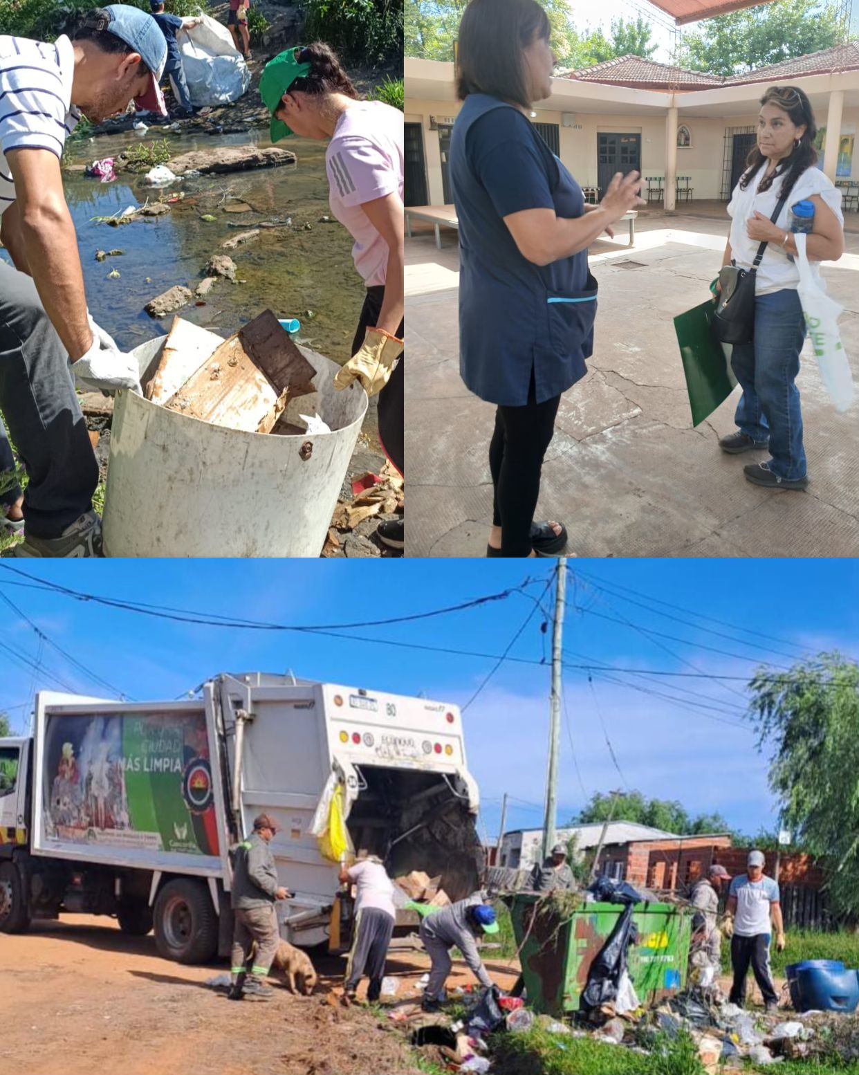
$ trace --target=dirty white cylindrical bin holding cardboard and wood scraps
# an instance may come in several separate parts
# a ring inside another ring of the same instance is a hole
[[[166,336],[131,353],[146,385]],[[116,395],[102,532],[105,556],[317,557],[367,413],[367,393],[333,386],[338,366],[300,347],[316,368],[314,408],[330,433],[243,433]]]

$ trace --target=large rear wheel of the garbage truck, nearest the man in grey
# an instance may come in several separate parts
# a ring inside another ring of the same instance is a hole
[[[207,963],[218,947],[218,919],[199,880],[168,882],[155,901],[155,943],[164,959]]]

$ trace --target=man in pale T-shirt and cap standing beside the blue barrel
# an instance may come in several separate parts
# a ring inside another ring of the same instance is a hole
[[[764,864],[763,851],[750,851],[747,872],[734,877],[728,889],[728,913],[733,915],[733,985],[730,1000],[740,1007],[745,1004],[746,976],[750,964],[767,1010],[774,1012],[778,1006],[778,997],[770,970],[770,922],[772,920],[772,926],[775,927],[775,945],[778,951],[783,951],[785,947],[785,923],[778,900],[778,885],[772,877],[764,876]]]

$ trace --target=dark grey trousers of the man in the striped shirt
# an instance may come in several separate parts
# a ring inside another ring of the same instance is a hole
[[[35,284],[0,261],[0,412],[24,461],[25,529],[59,538],[92,507],[99,467],[74,393],[69,356]]]

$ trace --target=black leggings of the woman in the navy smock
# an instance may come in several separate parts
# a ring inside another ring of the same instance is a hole
[[[492,525],[501,527],[502,556],[531,555],[531,522],[540,496],[543,457],[555,435],[560,396],[536,402],[534,375],[525,406],[499,406],[489,443],[495,486]]]

